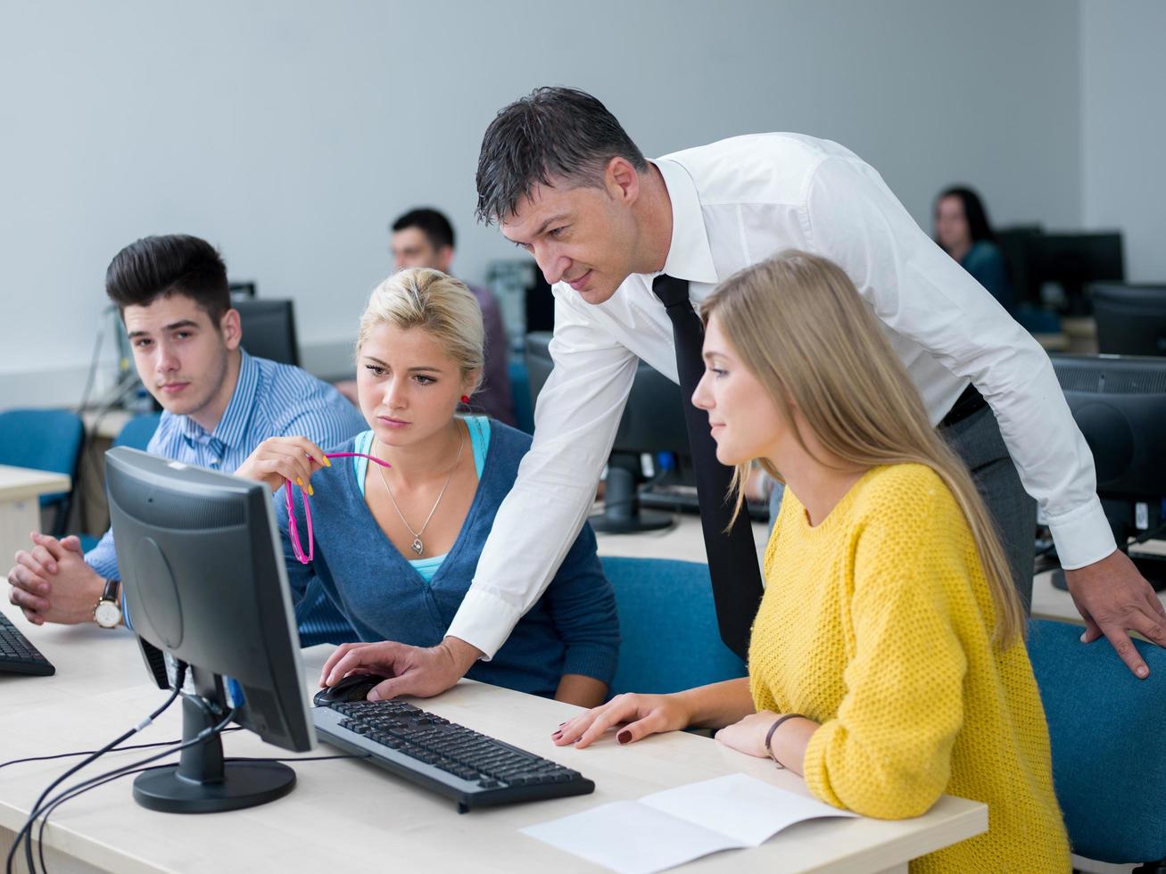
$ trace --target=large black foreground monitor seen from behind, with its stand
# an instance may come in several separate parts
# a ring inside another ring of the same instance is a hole
[[[156,665],[152,647],[188,665],[183,740],[238,706],[236,721],[268,743],[311,749],[267,487],[124,446],[105,459],[126,607],[147,665]],[[156,668],[152,676],[159,679]],[[241,702],[231,700],[224,677],[241,688]],[[276,762],[224,762],[213,734],[183,749],[177,766],[141,774],[134,798],[152,810],[204,813],[264,804],[294,784],[295,771]]]

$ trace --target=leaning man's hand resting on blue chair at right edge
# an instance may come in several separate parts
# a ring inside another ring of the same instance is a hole
[[[1150,669],[1129,632],[1166,647],[1166,608],[1129,556],[1115,551],[1100,562],[1066,571],[1065,579],[1086,620],[1081,640],[1091,643],[1104,635],[1131,672],[1143,679],[1149,677]]]

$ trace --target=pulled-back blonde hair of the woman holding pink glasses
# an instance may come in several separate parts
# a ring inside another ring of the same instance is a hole
[[[462,369],[477,372],[473,390],[482,385],[485,364],[485,329],[482,308],[461,280],[441,270],[415,267],[398,270],[372,290],[360,315],[357,354],[381,324],[420,327],[445,350]]]

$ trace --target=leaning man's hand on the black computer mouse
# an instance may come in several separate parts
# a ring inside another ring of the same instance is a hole
[[[393,641],[342,643],[324,663],[319,685],[336,685],[353,671],[384,674],[388,679],[368,692],[368,700],[401,695],[429,698],[457,683],[480,657],[482,650],[457,637],[447,637],[436,647]]]

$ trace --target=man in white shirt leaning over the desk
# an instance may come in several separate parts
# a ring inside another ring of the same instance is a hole
[[[676,379],[653,279],[687,280],[698,302],[733,272],[799,248],[841,265],[881,319],[932,421],[985,493],[1021,594],[1032,585],[1026,491],[1068,571],[1082,640],[1104,635],[1147,676],[1128,632],[1166,646],[1166,611],[1116,549],[1093,456],[1047,355],[854,153],[772,133],[646,161],[593,97],[539,89],[486,131],[477,182],[479,218],[497,221],[553,286],[555,367],[534,444],[445,641],[371,644],[379,649],[345,668],[375,663],[398,675],[396,693],[434,695],[490,657],[586,517],[637,360]]]

